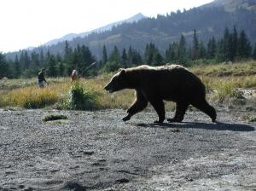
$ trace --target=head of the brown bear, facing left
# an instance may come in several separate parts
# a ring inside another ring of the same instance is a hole
[[[116,73],[113,78],[111,78],[110,82],[104,87],[104,89],[109,93],[124,90],[125,88],[128,88],[125,69],[119,69],[119,72]]]

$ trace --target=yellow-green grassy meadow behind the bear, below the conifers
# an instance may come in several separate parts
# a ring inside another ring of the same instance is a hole
[[[256,61],[200,65],[189,69],[202,79],[207,87],[207,99],[213,105],[230,104],[230,101],[241,99],[240,90],[256,90]],[[83,110],[127,108],[134,100],[133,90],[113,94],[103,90],[112,75],[108,73],[95,78],[80,78],[79,83],[75,84],[70,82],[70,78],[46,77],[49,84],[44,89],[38,88],[37,78],[1,79],[0,107]],[[168,102],[166,107],[173,109],[174,104]]]

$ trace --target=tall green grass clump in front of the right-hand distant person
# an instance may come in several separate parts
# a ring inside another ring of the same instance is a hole
[[[67,92],[67,98],[62,101],[61,107],[73,110],[93,110],[99,108],[99,93],[88,87],[83,87],[79,81],[74,82]]]

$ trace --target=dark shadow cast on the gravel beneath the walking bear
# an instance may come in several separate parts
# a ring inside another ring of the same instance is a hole
[[[135,124],[138,127],[145,128],[191,128],[191,129],[204,129],[204,130],[232,130],[232,131],[253,131],[253,126],[248,124],[231,124],[231,123],[200,123],[200,122],[183,122],[183,123],[163,123],[163,124]]]

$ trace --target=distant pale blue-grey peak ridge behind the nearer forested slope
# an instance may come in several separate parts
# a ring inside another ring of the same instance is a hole
[[[118,25],[121,25],[123,23],[137,22],[138,20],[142,20],[144,18],[147,18],[147,17],[144,16],[143,14],[141,14],[141,13],[138,13],[138,14],[135,14],[135,15],[131,16],[130,18],[128,18],[126,20],[120,20],[120,21],[117,21],[117,22],[113,22],[111,24],[108,24],[107,26],[102,26],[102,27],[96,28],[96,29],[94,29],[90,32],[81,32],[81,33],[78,33],[78,34],[69,33],[69,34],[63,36],[62,38],[57,38],[57,39],[51,40],[48,43],[45,43],[44,45],[45,46],[51,46],[51,45],[54,45],[56,43],[64,42],[66,40],[71,41],[71,40],[73,40],[73,38],[84,38],[84,37],[88,36],[90,33],[106,32],[106,31],[111,30],[113,26],[118,26]]]

